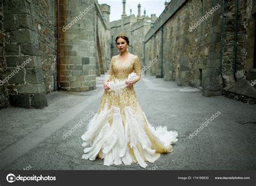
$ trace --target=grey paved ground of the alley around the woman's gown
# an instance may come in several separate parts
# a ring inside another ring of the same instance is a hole
[[[49,106],[44,109],[1,109],[0,169],[142,170],[138,164],[108,167],[103,166],[103,160],[81,159],[80,136],[87,122],[70,136],[63,136],[80,119],[97,112],[103,80],[104,77],[97,78],[97,89],[91,92],[52,93],[48,95]],[[154,77],[143,77],[135,90],[153,126],[165,125],[178,132],[173,152],[162,154],[146,169],[256,169],[256,106],[223,96],[206,98],[196,88],[178,87],[176,82]],[[190,139],[190,134],[218,111],[220,114]]]

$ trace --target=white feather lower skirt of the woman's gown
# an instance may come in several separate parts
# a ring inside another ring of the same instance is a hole
[[[108,109],[105,104],[82,135],[82,159],[98,157],[104,159],[105,166],[134,162],[146,168],[146,161],[153,163],[161,153],[171,152],[172,144],[178,141],[178,133],[167,127],[151,126],[139,104],[137,108],[134,112],[131,106],[125,106],[122,112],[117,106]]]

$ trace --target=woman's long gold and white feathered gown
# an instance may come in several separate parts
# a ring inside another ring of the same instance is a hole
[[[123,64],[122,64],[123,63]],[[127,79],[131,72],[137,74],[134,83],[140,80],[140,61],[130,54],[125,62],[113,56],[110,62],[108,81]],[[82,135],[84,154],[82,159],[104,159],[104,165],[130,165],[141,167],[145,161],[153,163],[161,153],[172,151],[172,144],[178,141],[178,133],[166,127],[153,127],[140,108],[133,85],[122,88],[120,93],[106,91],[100,100],[98,112],[89,122]]]

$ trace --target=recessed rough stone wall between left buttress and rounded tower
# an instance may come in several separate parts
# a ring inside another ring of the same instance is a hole
[[[56,0],[32,1],[46,93],[57,89],[57,11]]]

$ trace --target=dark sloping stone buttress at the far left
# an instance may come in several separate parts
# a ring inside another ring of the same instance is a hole
[[[3,4],[5,77],[12,106],[42,108],[47,105],[41,52],[33,18],[33,1],[9,0]]]

